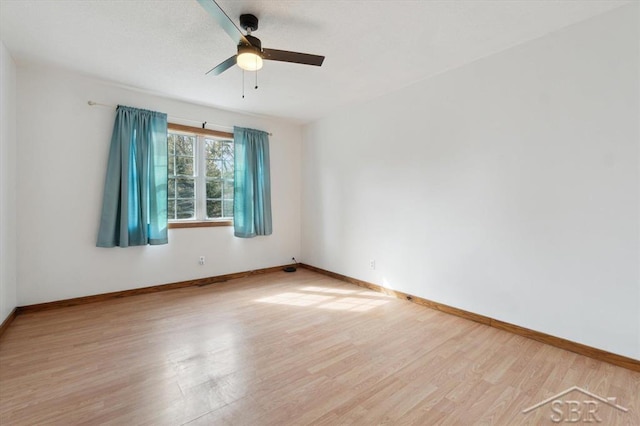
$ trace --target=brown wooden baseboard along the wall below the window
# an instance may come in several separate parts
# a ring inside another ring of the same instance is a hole
[[[168,284],[154,285],[150,287],[134,288],[131,290],[114,291],[112,293],[96,294],[92,296],[74,297],[73,299],[56,300],[54,302],[37,303],[34,305],[19,306],[15,309],[15,315],[32,312],[48,311],[50,309],[64,308],[68,306],[84,305],[87,303],[103,302],[105,300],[120,299],[122,297],[138,296],[141,294],[158,293],[161,291],[175,290],[185,287],[201,287],[209,284],[244,278],[251,275],[267,274],[282,271],[283,268],[293,265],[273,266],[270,268],[255,269],[252,271],[234,272],[232,274],[217,275],[214,277],[198,278],[195,280],[178,281]],[[6,321],[5,321],[6,322]],[[4,323],[3,323],[4,327]]]

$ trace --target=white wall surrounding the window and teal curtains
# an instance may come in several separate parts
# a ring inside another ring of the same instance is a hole
[[[299,256],[299,125],[42,66],[20,65],[17,74],[18,305],[283,265]],[[168,245],[96,248],[115,110],[89,107],[88,100],[272,132],[273,234],[239,239],[231,227],[172,229]],[[198,265],[200,255],[206,256],[204,266]]]

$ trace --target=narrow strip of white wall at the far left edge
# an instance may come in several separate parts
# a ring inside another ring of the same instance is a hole
[[[17,306],[16,64],[0,41],[0,323]]]

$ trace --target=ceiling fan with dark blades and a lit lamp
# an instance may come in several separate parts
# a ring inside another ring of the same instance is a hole
[[[198,3],[200,3],[238,45],[237,55],[233,55],[229,59],[216,65],[207,71],[207,74],[222,74],[236,63],[243,70],[257,71],[262,68],[263,60],[315,66],[321,66],[324,61],[324,56],[319,55],[290,52],[287,50],[263,49],[260,39],[251,35],[253,31],[258,29],[258,18],[256,16],[251,14],[240,15],[240,26],[247,31],[247,35],[244,35],[214,0],[198,0]]]

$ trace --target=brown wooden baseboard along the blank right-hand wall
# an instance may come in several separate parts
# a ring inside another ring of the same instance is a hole
[[[536,340],[538,342],[546,343],[551,346],[555,346],[560,349],[564,349],[570,352],[574,352],[580,355],[587,356],[589,358],[596,359],[598,361],[608,362],[609,364],[617,365],[618,367],[627,368],[632,371],[640,372],[640,361],[628,358],[622,355],[614,354],[604,351],[602,349],[594,348],[591,346],[583,345],[582,343],[573,342],[571,340],[563,339],[561,337],[552,336],[550,334],[541,333],[539,331],[531,330],[519,325],[510,324],[508,322],[500,321],[484,315],[475,314],[473,312],[465,311],[464,309],[454,308],[453,306],[444,305],[442,303],[434,302],[432,300],[423,299],[418,296],[414,296],[401,291],[391,290],[377,284],[372,284],[367,281],[351,278],[346,275],[337,274],[335,272],[327,271],[322,268],[307,265],[305,263],[299,264],[299,266],[306,268],[310,271],[314,271],[320,274],[327,275],[329,277],[355,284],[360,287],[368,288],[379,293],[388,294],[390,296],[397,297],[398,299],[404,299],[416,303],[418,305],[426,306],[431,309],[435,309],[447,314],[456,315],[461,318],[465,318],[471,321],[479,322],[490,327],[494,327],[500,330],[508,331],[520,336],[527,337],[529,339]]]

